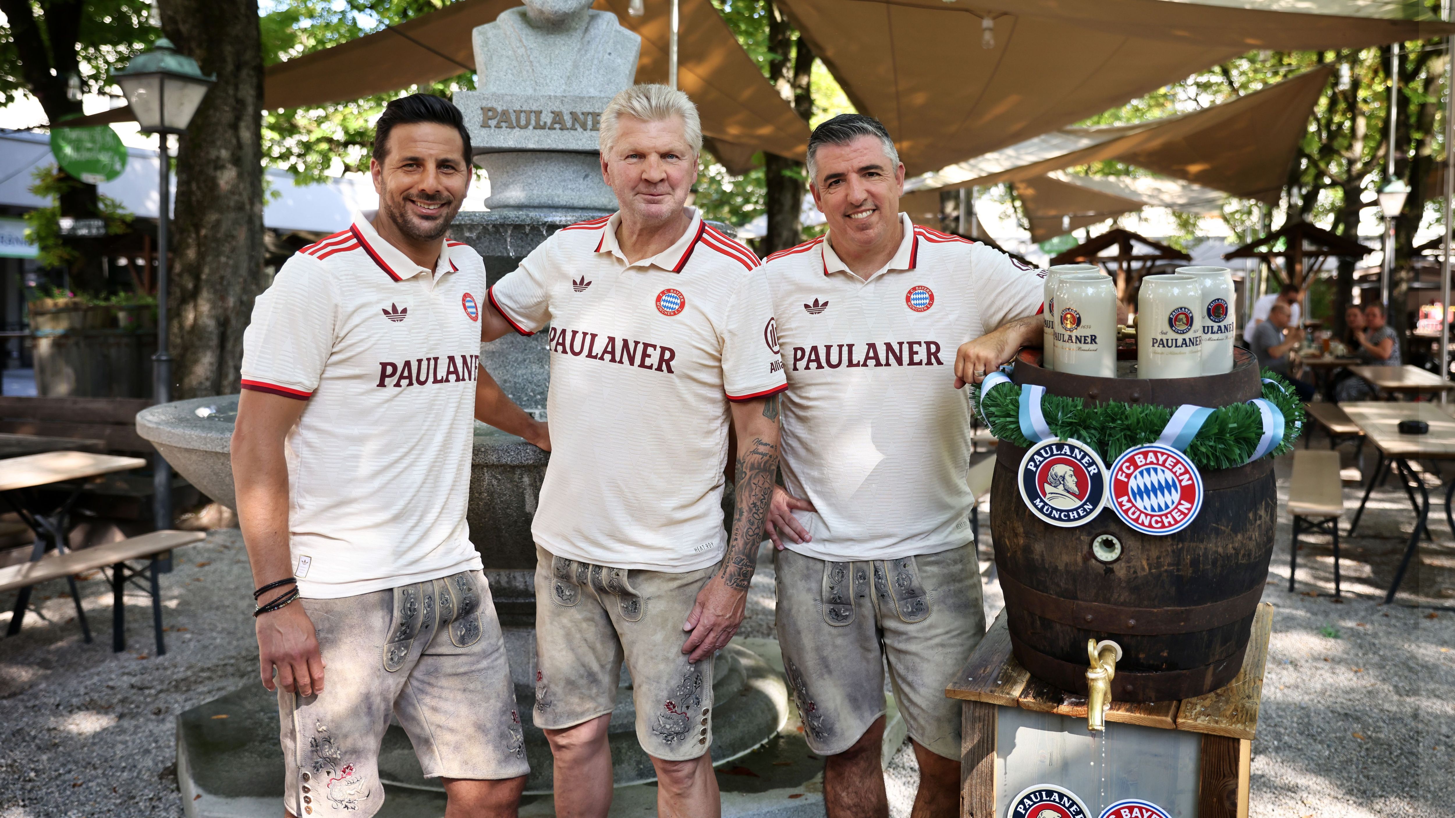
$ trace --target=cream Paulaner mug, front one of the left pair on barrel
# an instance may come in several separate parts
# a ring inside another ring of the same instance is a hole
[[[1101,273],[1056,279],[1056,372],[1116,378],[1116,283]]]

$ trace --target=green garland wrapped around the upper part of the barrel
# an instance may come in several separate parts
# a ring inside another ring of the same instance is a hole
[[[1283,440],[1269,456],[1277,456],[1293,448],[1304,427],[1304,404],[1286,381],[1272,369],[1263,370],[1263,378],[1275,384],[1263,384],[1263,397],[1283,413]],[[981,400],[981,389],[972,394],[991,421],[991,433],[1013,446],[1029,448],[1032,443],[1020,433],[1020,386],[1001,384]],[[1083,398],[1045,395],[1040,410],[1046,426],[1056,437],[1074,437],[1096,449],[1110,468],[1112,461],[1132,446],[1155,443],[1173,410],[1148,404],[1087,404]],[[1187,456],[1200,469],[1231,469],[1248,462],[1263,437],[1263,413],[1253,404],[1231,404],[1218,407],[1197,430],[1187,446]]]

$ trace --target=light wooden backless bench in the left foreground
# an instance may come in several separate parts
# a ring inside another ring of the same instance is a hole
[[[113,594],[112,651],[121,652],[127,649],[127,607],[122,602],[122,591],[129,580],[135,587],[151,596],[151,623],[157,633],[157,654],[160,655],[167,652],[167,648],[162,641],[162,588],[159,584],[162,571],[159,571],[159,564],[163,555],[167,555],[167,561],[170,561],[169,552],[173,548],[191,545],[205,538],[207,535],[202,532],[162,530],[80,551],[51,552],[32,562],[0,568],[0,591],[28,588],[47,580],[73,577],[83,571],[105,570],[109,567]],[[137,570],[127,565],[128,559],[148,559],[148,565]],[[141,586],[137,580],[147,580],[147,586]],[[22,613],[17,612],[16,616],[19,617]],[[81,623],[86,641],[90,642],[90,626],[86,623],[86,612],[81,610],[79,597],[76,599],[76,617]],[[10,631],[13,633],[16,628],[12,626]]]

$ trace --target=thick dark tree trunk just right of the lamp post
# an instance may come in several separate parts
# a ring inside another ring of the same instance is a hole
[[[175,398],[239,389],[243,328],[263,289],[258,0],[162,0],[163,31],[217,84],[178,150],[169,343]]]

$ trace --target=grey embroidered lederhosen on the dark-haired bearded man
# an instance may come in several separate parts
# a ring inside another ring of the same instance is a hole
[[[290,812],[378,812],[378,751],[390,712],[425,777],[530,772],[505,639],[480,571],[300,604],[326,668],[323,693],[278,689]]]

